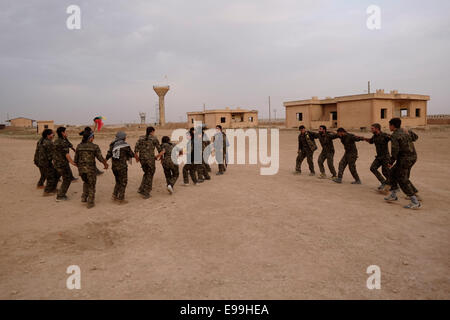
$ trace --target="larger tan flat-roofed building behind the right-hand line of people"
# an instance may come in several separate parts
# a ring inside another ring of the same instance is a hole
[[[429,96],[406,94],[384,90],[376,93],[326,98],[319,100],[288,101],[286,108],[286,127],[304,125],[317,129],[320,125],[330,128],[346,129],[369,128],[373,123],[388,127],[389,120],[402,118],[405,127],[427,125],[427,102]]]

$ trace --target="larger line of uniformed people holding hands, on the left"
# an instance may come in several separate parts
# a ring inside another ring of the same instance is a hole
[[[215,152],[219,167],[217,175],[222,175],[226,171],[226,154],[229,143],[226,134],[222,131],[222,126],[216,127],[216,134],[212,138],[213,144],[211,146],[211,141],[206,136],[205,131],[205,127],[198,127],[191,128],[187,133],[186,163],[182,169],[183,185],[189,185],[189,177],[193,184],[211,179],[211,167],[207,159],[209,159],[212,150]],[[151,197],[153,176],[158,160],[161,160],[167,190],[172,194],[179,177],[178,157],[183,155],[183,150],[173,144],[168,136],[162,137],[160,143],[155,136],[155,132],[155,128],[148,127],[146,134],[136,142],[133,151],[126,142],[126,133],[119,131],[114,141],[109,145],[106,157],[103,157],[100,147],[94,143],[95,134],[90,127],[86,127],[80,132],[82,141],[76,149],[69,141],[65,127],[59,127],[56,130],[58,137],[55,140],[53,130],[45,129],[37,142],[34,155],[34,163],[41,173],[37,187],[44,189],[44,196],[52,196],[56,193],[56,201],[58,202],[68,200],[66,194],[70,184],[77,180],[73,176],[70,166],[75,166],[78,168],[79,176],[83,181],[81,201],[87,203],[87,208],[92,208],[95,205],[97,176],[103,173],[97,168],[96,160],[103,163],[104,168],[108,169],[108,160],[112,159],[112,172],[115,177],[112,200],[124,204],[127,203],[125,190],[128,183],[128,163],[131,163],[134,158],[136,162],[141,164],[144,172],[138,189],[138,193],[144,199]],[[70,156],[70,150],[75,152],[73,159]],[[60,179],[62,179],[62,182],[57,189]]]

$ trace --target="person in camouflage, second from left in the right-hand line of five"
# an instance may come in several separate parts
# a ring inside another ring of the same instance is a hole
[[[336,178],[336,169],[334,168],[334,144],[333,140],[338,138],[337,134],[329,133],[327,127],[322,125],[319,127],[319,133],[310,132],[311,137],[314,139],[319,139],[320,145],[322,146],[322,152],[320,152],[319,159],[317,163],[320,169],[320,179],[325,179],[325,167],[323,163],[327,160],[328,169],[330,169],[331,178]]]

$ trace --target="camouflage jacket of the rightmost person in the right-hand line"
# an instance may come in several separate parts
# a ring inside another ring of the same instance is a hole
[[[395,130],[391,135],[391,161],[394,163],[399,160],[415,160],[417,159],[414,141],[419,137],[412,131],[403,129]]]

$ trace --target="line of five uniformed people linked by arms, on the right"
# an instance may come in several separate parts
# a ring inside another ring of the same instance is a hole
[[[327,178],[325,174],[324,162],[327,160],[331,179],[336,183],[342,183],[345,168],[348,166],[354,181],[352,184],[361,184],[358,171],[356,170],[356,160],[358,159],[358,149],[356,142],[366,141],[375,145],[376,156],[370,171],[380,181],[378,190],[382,193],[390,194],[385,197],[386,201],[397,201],[398,192],[401,189],[406,194],[410,203],[405,206],[407,209],[418,209],[421,207],[421,199],[418,190],[410,180],[411,168],[417,161],[417,152],[414,142],[418,136],[411,130],[401,127],[400,118],[393,118],[389,121],[389,129],[392,134],[381,131],[381,125],[374,123],[371,126],[373,136],[364,138],[347,132],[344,128],[339,128],[336,133],[329,132],[327,127],[322,125],[318,132],[307,131],[305,126],[300,126],[298,136],[298,156],[296,159],[295,173],[301,174],[301,165],[307,159],[310,175],[315,175],[313,154],[317,150],[315,140],[319,140],[322,151],[318,158],[320,169],[320,179]],[[344,146],[344,155],[339,162],[338,172],[334,167],[334,145],[333,140],[340,139]],[[391,142],[391,152],[389,152],[389,142]],[[381,167],[381,173],[379,168]]]

